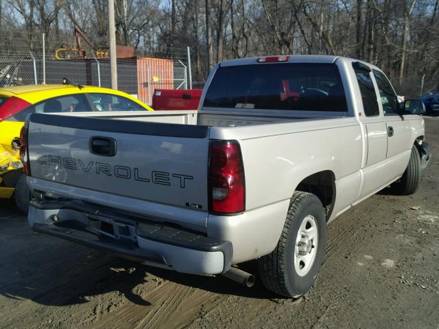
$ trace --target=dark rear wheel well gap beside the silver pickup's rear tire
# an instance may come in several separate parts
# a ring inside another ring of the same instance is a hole
[[[320,171],[309,175],[296,187],[296,191],[313,193],[322,202],[327,220],[335,204],[335,175],[332,171]]]

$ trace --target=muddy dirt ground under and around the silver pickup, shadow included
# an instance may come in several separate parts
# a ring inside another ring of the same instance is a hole
[[[1,202],[0,328],[438,329],[439,118],[425,121],[434,158],[418,192],[381,191],[330,223],[318,282],[298,300],[36,234]]]

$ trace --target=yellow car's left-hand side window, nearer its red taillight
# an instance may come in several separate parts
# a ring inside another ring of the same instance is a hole
[[[62,112],[88,112],[90,106],[83,94],[67,95],[40,101],[14,115],[16,121],[25,121],[29,113],[62,113]]]

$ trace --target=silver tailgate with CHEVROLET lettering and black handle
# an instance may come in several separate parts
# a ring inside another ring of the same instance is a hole
[[[34,178],[207,212],[209,127],[32,114],[28,141]]]

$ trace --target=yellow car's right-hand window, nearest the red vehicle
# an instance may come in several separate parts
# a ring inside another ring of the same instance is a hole
[[[106,111],[144,111],[145,108],[138,103],[117,95],[89,93],[87,94],[90,99],[93,111],[106,112]]]

